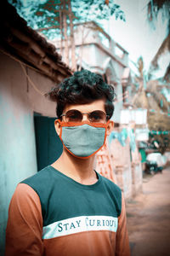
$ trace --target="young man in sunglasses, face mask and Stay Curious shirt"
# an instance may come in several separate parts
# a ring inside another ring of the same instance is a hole
[[[6,256],[128,256],[121,189],[94,170],[95,154],[113,128],[114,89],[83,70],[48,96],[57,102],[54,125],[63,153],[17,186]]]

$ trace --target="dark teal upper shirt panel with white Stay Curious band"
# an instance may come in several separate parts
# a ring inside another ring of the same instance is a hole
[[[97,172],[96,172],[97,173]],[[122,191],[97,173],[92,185],[77,183],[52,166],[21,183],[31,186],[42,205],[42,238],[54,238],[84,230],[116,232],[122,211]]]

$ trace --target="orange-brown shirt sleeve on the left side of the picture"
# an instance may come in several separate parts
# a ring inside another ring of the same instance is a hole
[[[15,189],[8,208],[5,256],[40,256],[42,207],[39,196],[25,183]]]

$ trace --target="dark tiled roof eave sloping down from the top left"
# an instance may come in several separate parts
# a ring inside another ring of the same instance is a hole
[[[27,26],[26,20],[6,1],[0,9],[0,28],[0,47],[3,51],[57,83],[72,74],[71,69],[61,61],[54,45]]]

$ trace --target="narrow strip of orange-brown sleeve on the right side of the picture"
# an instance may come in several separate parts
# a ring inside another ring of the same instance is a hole
[[[123,195],[122,212],[118,218],[118,229],[116,232],[116,256],[130,256],[129,240],[127,235],[127,216]]]

